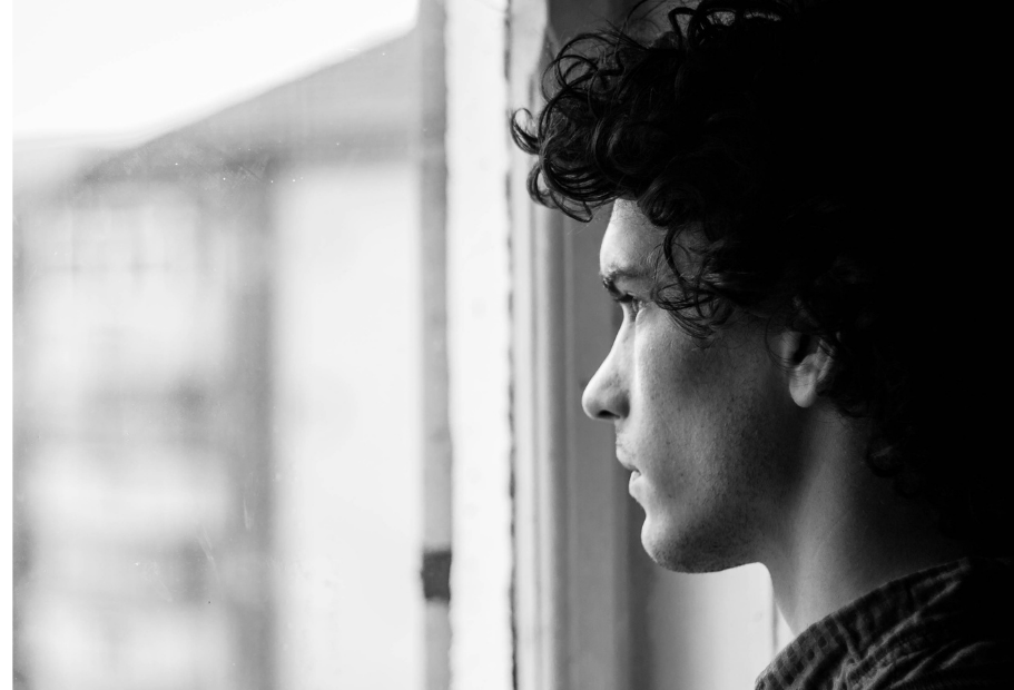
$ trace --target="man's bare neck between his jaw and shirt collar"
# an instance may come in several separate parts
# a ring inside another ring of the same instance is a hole
[[[864,462],[864,430],[814,410],[804,472],[777,543],[764,560],[781,614],[798,634],[897,578],[961,558],[921,505],[895,494]]]

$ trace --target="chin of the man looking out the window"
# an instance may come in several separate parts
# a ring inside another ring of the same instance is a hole
[[[677,525],[673,520],[644,519],[641,545],[649,558],[666,570],[680,573],[712,573],[751,563],[735,532],[713,525]],[[680,529],[681,528],[681,529]]]

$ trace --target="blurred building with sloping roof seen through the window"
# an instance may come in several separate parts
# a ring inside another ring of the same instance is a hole
[[[422,687],[417,51],[19,158],[16,687]]]

